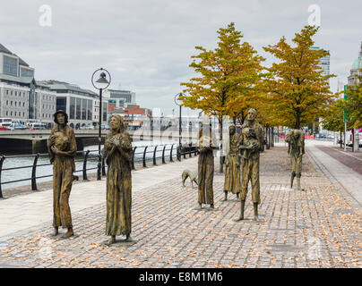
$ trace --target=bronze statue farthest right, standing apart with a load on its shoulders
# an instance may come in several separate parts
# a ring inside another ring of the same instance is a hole
[[[288,154],[291,163],[290,188],[293,188],[294,177],[297,176],[297,189],[300,190],[300,177],[302,175],[302,157],[304,150],[304,133],[302,130],[289,130],[285,137],[288,142]]]

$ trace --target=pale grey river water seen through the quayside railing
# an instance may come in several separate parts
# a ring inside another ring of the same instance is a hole
[[[161,142],[161,141],[135,141],[132,143],[133,147],[137,147],[135,150],[135,155],[134,155],[134,163],[139,163],[142,162],[142,157],[143,157],[143,151],[145,146],[147,147],[146,150],[146,161],[148,162],[147,164],[150,165],[152,164],[152,157],[153,157],[153,151],[156,145],[158,145],[159,147],[157,147],[156,150],[156,157],[161,157],[162,156],[162,151],[163,151],[163,146],[167,144],[166,149],[165,149],[165,158],[168,160],[169,159],[169,155],[170,155],[170,149],[171,149],[171,142]],[[103,147],[103,146],[102,146]],[[176,150],[177,144],[174,145],[173,147],[173,158],[176,158],[176,154],[177,154],[177,150]],[[98,165],[98,146],[89,146],[89,147],[84,147],[84,151],[94,151],[94,152],[90,152],[89,156],[88,156],[88,160],[87,160],[87,169],[89,168],[96,168]],[[2,154],[4,156],[18,156],[19,154]],[[83,168],[83,155],[79,155],[75,157],[75,169],[76,172],[74,173],[75,175],[78,175],[80,177],[80,179],[82,179],[82,168]],[[161,162],[161,158],[157,159],[157,163]],[[1,182],[2,182],[2,189],[11,189],[11,188],[16,188],[16,187],[20,187],[20,186],[26,186],[26,185],[30,185],[31,181],[19,181],[19,182],[11,182],[11,183],[6,183],[7,181],[17,181],[17,180],[22,180],[22,179],[29,179],[31,177],[31,170],[32,170],[32,164],[34,163],[34,156],[22,156],[22,157],[6,157],[4,159],[4,164],[3,164],[3,171],[1,172]],[[47,176],[49,175],[50,177],[47,178],[40,178],[37,179],[37,182],[41,182],[41,181],[51,181],[52,180],[52,175],[53,175],[53,165],[49,164],[49,158],[47,155],[45,156],[39,156],[38,159],[38,166],[37,166],[37,172],[36,172],[36,176]],[[44,166],[41,166],[41,164],[46,164]],[[16,170],[4,170],[4,169],[8,169],[8,168],[14,168],[14,167],[21,167],[21,166],[29,166],[27,168],[22,168],[22,169],[16,169]],[[107,165],[106,165],[107,167]],[[97,170],[90,170],[87,173],[94,173],[97,172]]]

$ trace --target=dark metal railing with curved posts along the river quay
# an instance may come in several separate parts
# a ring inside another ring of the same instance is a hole
[[[140,150],[140,151],[138,151]],[[138,152],[137,152],[138,151]],[[175,154],[176,152],[176,154]],[[93,156],[90,156],[94,154]],[[135,164],[142,164],[143,167],[147,167],[147,163],[152,162],[152,165],[157,165],[158,161],[162,164],[166,164],[166,161],[173,162],[174,156],[177,156],[177,160],[181,161],[181,157],[189,155],[190,157],[194,154],[197,156],[198,151],[197,147],[195,146],[187,146],[187,147],[175,147],[175,144],[165,144],[165,145],[155,145],[155,146],[142,146],[142,147],[134,147],[133,149],[133,156],[131,161],[131,168],[135,170]],[[48,156],[48,154],[35,154],[35,155],[20,155],[20,156],[0,156],[0,198],[3,198],[2,186],[11,183],[17,183],[21,181],[31,181],[31,190],[38,190],[37,180],[43,178],[50,178],[53,177],[53,174],[49,175],[41,175],[37,176],[37,168],[42,166],[50,166],[52,164],[38,164],[39,157]],[[82,156],[82,158],[79,158]],[[23,166],[16,166],[10,168],[3,168],[4,161],[12,160],[14,158],[25,158],[25,157],[34,157],[33,163]],[[75,170],[74,173],[82,172],[82,180],[88,180],[88,171],[91,170],[98,170],[99,167],[96,164],[98,162],[98,150],[85,150],[85,151],[77,151],[76,157],[74,162],[75,163],[82,163],[82,168],[79,170]],[[88,167],[88,162],[90,160],[94,160],[96,164],[95,167]],[[106,164],[105,159],[101,157],[101,174],[102,176],[106,176]],[[31,176],[30,178],[19,179],[19,180],[12,180],[12,181],[2,181],[2,174],[6,171],[12,170],[23,170],[23,169],[30,169],[31,168]],[[100,171],[100,170],[99,170]],[[74,175],[74,180],[78,181],[79,176]]]

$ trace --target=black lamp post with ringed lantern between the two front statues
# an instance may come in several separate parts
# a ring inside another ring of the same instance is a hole
[[[107,80],[107,74],[108,73],[108,78],[109,80]],[[100,72],[99,74],[99,79],[94,81],[94,75]],[[97,180],[100,180],[101,178],[101,168],[102,168],[102,156],[100,155],[100,144],[101,144],[101,125],[102,125],[102,111],[103,111],[103,105],[102,105],[102,91],[107,89],[109,87],[111,81],[111,77],[110,77],[110,73],[103,69],[100,68],[96,71],[93,72],[93,74],[91,75],[91,84],[93,85],[94,88],[99,90],[99,126],[98,126],[98,170],[97,170]],[[96,86],[95,82],[98,84],[98,86]]]

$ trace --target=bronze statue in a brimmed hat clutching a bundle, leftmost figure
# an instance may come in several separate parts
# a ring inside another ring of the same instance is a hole
[[[69,196],[75,172],[74,156],[77,144],[72,128],[67,125],[68,115],[59,110],[54,114],[56,127],[50,131],[47,139],[47,150],[50,163],[53,163],[53,226],[54,235],[58,234],[59,226],[67,228],[63,238],[73,236],[71,209]]]

